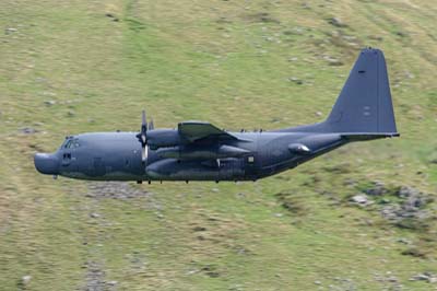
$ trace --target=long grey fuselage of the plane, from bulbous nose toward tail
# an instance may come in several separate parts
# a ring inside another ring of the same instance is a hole
[[[256,181],[347,142],[339,133],[231,133],[238,140],[147,147],[144,162],[135,132],[84,133],[66,138],[52,154],[36,154],[35,165],[45,174],[93,181]]]

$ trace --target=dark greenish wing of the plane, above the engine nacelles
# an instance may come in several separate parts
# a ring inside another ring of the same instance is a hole
[[[190,142],[201,139],[221,139],[229,140],[237,138],[209,123],[203,121],[184,121],[178,124],[178,131],[181,137]]]

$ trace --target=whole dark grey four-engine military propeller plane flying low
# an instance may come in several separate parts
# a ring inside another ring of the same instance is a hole
[[[143,112],[140,132],[67,137],[36,153],[43,174],[94,181],[256,181],[349,142],[399,137],[381,50],[359,54],[328,118],[270,131],[229,132],[202,121],[155,129]]]

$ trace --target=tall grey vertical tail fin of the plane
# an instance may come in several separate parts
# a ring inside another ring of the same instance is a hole
[[[323,131],[347,132],[351,136],[399,136],[381,50],[362,50],[331,114],[321,125]]]

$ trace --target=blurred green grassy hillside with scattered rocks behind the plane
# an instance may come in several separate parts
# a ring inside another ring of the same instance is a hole
[[[432,0],[3,0],[0,290],[437,289],[435,15]],[[386,54],[399,139],[257,183],[34,168],[66,135],[139,130],[142,108],[158,127],[320,121],[365,46]]]

